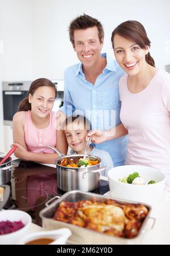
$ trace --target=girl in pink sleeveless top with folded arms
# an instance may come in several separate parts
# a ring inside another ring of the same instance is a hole
[[[48,145],[67,153],[65,135],[62,130],[57,131],[57,117],[52,111],[56,97],[56,86],[50,80],[40,78],[31,83],[27,98],[19,104],[19,112],[13,117],[13,145],[18,146],[16,157],[54,163],[58,155],[47,148]]]

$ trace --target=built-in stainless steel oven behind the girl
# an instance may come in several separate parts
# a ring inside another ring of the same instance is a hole
[[[31,81],[2,82],[3,120],[5,125],[12,125],[12,118],[18,111],[19,103],[27,96]]]

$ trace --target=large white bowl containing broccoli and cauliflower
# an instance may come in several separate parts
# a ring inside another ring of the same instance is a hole
[[[130,174],[139,173],[146,185],[134,185],[119,182],[119,179]],[[155,204],[162,200],[165,187],[165,175],[162,171],[140,165],[124,165],[108,171],[108,181],[111,196],[118,199],[133,200],[147,204]],[[147,184],[155,181],[155,184]]]

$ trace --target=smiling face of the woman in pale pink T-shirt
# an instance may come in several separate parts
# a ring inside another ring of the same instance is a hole
[[[142,49],[134,41],[117,34],[114,36],[113,45],[116,60],[127,74],[136,75],[146,65],[145,56],[149,51],[147,45]]]

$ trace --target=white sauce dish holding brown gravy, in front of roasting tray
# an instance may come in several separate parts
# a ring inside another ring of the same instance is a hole
[[[61,228],[56,230],[50,230],[50,231],[42,231],[42,232],[36,232],[29,234],[28,236],[24,237],[19,244],[25,245],[28,242],[31,242],[33,240],[41,239],[41,238],[50,238],[54,240],[49,245],[65,245],[67,239],[71,236],[71,230],[68,228]]]

